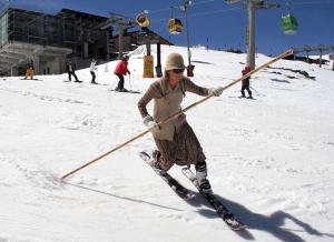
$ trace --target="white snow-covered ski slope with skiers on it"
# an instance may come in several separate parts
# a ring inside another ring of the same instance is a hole
[[[164,47],[169,52],[186,49]],[[244,54],[193,49],[199,85],[240,75]],[[145,91],[143,48],[129,60],[126,88]],[[258,64],[269,58],[258,54]],[[332,63],[331,63],[332,64]],[[140,94],[108,91],[116,62],[99,65],[99,85],[67,75],[0,79],[0,241],[334,241],[334,72],[279,61],[189,110],[215,193],[248,224],[230,231],[200,198],[184,202],[137,155],[146,135],[70,177],[59,178],[145,130]],[[315,80],[292,70],[307,71]],[[106,72],[107,71],[107,72]],[[279,73],[278,73],[279,72]],[[200,97],[187,94],[184,107]],[[170,173],[195,191],[174,167]]]

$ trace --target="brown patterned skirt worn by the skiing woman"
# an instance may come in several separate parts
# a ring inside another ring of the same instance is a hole
[[[161,153],[160,167],[166,171],[174,164],[190,165],[206,160],[199,141],[187,122],[174,133],[173,141],[155,139],[155,142]]]

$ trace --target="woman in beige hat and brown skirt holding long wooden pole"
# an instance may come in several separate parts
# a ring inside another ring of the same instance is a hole
[[[184,77],[185,68],[183,57],[179,53],[170,53],[167,57],[165,75],[150,84],[139,100],[138,109],[144,124],[153,133],[158,149],[153,153],[154,165],[164,173],[175,163],[178,165],[195,164],[200,190],[212,192],[210,183],[207,180],[206,157],[186,115],[181,113],[161,127],[158,125],[158,122],[181,110],[180,103],[187,91],[198,95],[213,93],[218,97],[223,93],[223,88],[206,89],[196,85]],[[153,117],[146,109],[151,100],[154,100]]]

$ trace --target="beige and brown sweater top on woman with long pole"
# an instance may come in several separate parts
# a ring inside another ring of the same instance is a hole
[[[146,93],[139,100],[139,112],[143,118],[149,115],[146,105],[154,99],[154,120],[156,122],[166,120],[181,110],[180,103],[183,102],[187,91],[198,95],[208,95],[208,89],[196,85],[188,78],[184,77],[174,90],[170,89],[168,79],[161,78],[151,83]],[[164,123],[161,129],[154,133],[154,137],[159,140],[173,141],[174,132],[177,132],[185,122],[186,115],[181,113],[171,121]]]

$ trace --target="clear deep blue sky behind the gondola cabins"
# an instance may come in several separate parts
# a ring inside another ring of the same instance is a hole
[[[7,0],[0,0],[1,8]],[[271,0],[281,3],[282,8],[256,11],[256,48],[257,52],[278,54],[291,47],[315,47],[334,44],[334,0]],[[291,8],[287,7],[291,2]],[[143,10],[148,10],[150,29],[169,39],[167,21],[171,16],[184,20],[179,11],[183,0],[11,0],[14,7],[28,8],[56,13],[62,8],[108,17],[109,12],[121,13],[135,18]],[[283,34],[281,17],[292,12],[299,23],[295,36]],[[210,49],[238,48],[245,50],[245,31],[247,11],[243,4],[226,4],[224,0],[193,0],[188,11],[190,46],[208,46]],[[177,46],[186,46],[185,32],[170,36]],[[314,52],[313,54],[316,54]]]

